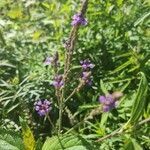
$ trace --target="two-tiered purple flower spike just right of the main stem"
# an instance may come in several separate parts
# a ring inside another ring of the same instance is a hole
[[[94,68],[94,64],[91,63],[89,59],[80,61],[82,67],[82,80],[85,84],[91,85],[91,69]]]

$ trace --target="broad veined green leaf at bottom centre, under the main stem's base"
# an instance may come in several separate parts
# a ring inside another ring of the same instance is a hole
[[[80,135],[63,135],[48,138],[42,150],[91,150],[94,147]]]

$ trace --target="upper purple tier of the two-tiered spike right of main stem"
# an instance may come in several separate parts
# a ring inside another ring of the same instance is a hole
[[[81,60],[80,64],[81,64],[83,70],[89,70],[89,69],[94,68],[94,66],[95,66],[94,64],[91,63],[91,61],[89,59]]]

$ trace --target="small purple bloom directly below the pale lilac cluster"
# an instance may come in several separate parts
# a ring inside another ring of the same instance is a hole
[[[61,88],[61,87],[64,85],[63,76],[62,76],[62,75],[57,75],[57,76],[55,76],[52,85],[53,85],[55,88]]]

